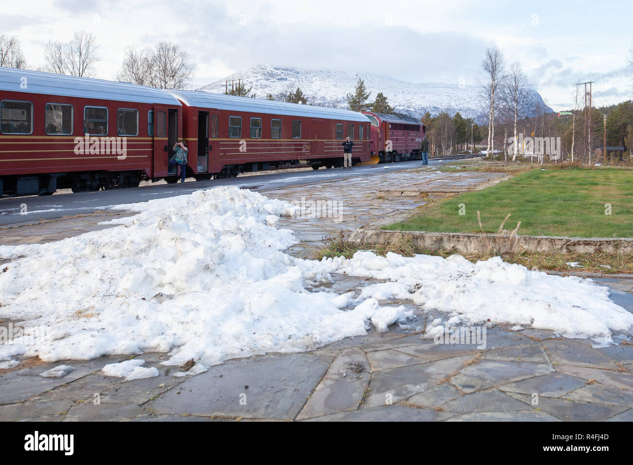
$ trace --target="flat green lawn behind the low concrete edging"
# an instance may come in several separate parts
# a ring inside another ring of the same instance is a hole
[[[460,204],[465,214],[460,215]],[[611,214],[605,214],[605,204]],[[483,190],[448,197],[423,213],[384,229],[571,237],[633,237],[633,170],[627,168],[532,169]]]

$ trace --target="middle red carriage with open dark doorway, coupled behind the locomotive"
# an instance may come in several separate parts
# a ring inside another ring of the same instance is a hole
[[[182,102],[189,166],[197,178],[230,177],[280,164],[310,161],[342,166],[346,137],[354,141],[353,160],[370,158],[370,123],[354,111],[285,102],[170,90]]]

